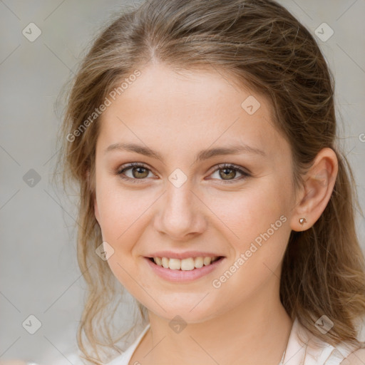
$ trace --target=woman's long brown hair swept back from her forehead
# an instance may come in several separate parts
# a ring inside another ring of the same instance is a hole
[[[349,341],[361,346],[356,319],[365,314],[365,262],[356,237],[354,204],[360,207],[351,168],[338,145],[334,78],[311,33],[272,0],[149,0],[119,15],[81,63],[59,138],[63,186],[72,180],[80,189],[77,252],[88,284],[78,328],[83,354],[93,364],[101,361],[99,355],[96,359],[86,352],[83,333],[97,354],[99,345],[118,350],[115,344],[125,335],[110,335],[106,316],[117,295],[115,278],[95,252],[102,242],[93,210],[100,118],[94,115],[91,120],[90,115],[123,79],[136,70],[143,72],[151,61],[175,70],[212,66],[234,83],[267,96],[275,125],[292,148],[296,187],[322,148],[336,152],[339,172],[326,209],[313,227],[289,237],[280,299],[289,316],[315,336],[332,345]],[[145,321],[145,307],[138,303],[138,309]],[[325,335],[314,326],[323,314],[334,322]],[[101,329],[106,333],[98,336]]]

